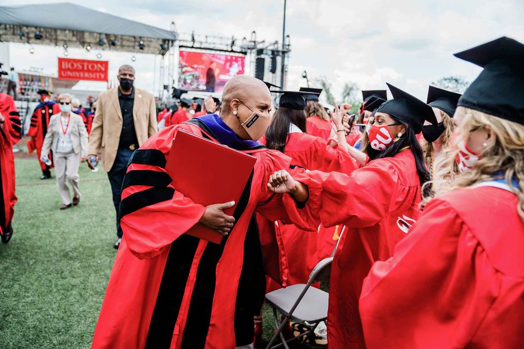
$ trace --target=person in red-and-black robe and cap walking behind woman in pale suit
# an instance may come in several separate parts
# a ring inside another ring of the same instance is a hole
[[[49,118],[51,115],[60,113],[60,106],[56,102],[49,99],[48,91],[40,90],[38,93],[40,94],[42,103],[36,106],[35,112],[31,116],[31,125],[27,135],[31,137],[30,142],[34,142],[34,146],[37,150],[38,162],[40,163],[40,168],[42,169],[42,176],[40,179],[48,179],[51,178],[50,169],[53,167],[53,165],[51,164],[49,166],[43,163],[40,160],[40,152],[42,150],[43,139],[46,137]],[[48,154],[48,158],[52,159],[52,156]]]

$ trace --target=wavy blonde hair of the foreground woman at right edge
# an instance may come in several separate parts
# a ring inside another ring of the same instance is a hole
[[[457,113],[464,113],[463,122],[458,128],[462,139],[467,139],[472,129],[488,126],[495,133],[495,143],[484,151],[470,172],[464,173],[457,170],[455,162],[459,150],[448,147],[443,151],[435,159],[434,197],[480,182],[504,178],[517,195],[517,212],[524,221],[524,125],[465,107],[457,108]],[[517,188],[511,183],[513,179],[518,182]]]

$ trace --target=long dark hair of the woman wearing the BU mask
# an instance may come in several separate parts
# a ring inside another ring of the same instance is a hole
[[[369,156],[369,160],[390,158],[397,155],[401,149],[409,147],[413,156],[415,158],[415,166],[417,167],[417,173],[419,175],[420,187],[423,186],[425,182],[431,180],[431,174],[425,166],[424,156],[422,154],[422,147],[420,146],[419,141],[417,140],[416,134],[413,132],[413,129],[401,122],[396,117],[390,115],[394,119],[395,123],[404,125],[406,133],[400,137],[400,139],[384,150],[375,150],[369,144],[369,138],[367,133],[364,133],[363,139],[363,149],[364,152]],[[394,135],[395,137],[396,135]],[[426,186],[424,188],[424,194],[430,194],[431,186]]]

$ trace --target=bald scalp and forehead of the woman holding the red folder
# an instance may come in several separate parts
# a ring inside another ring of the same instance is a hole
[[[249,105],[257,105],[260,102],[271,106],[271,93],[266,84],[249,75],[236,75],[227,81],[222,91],[222,111],[230,113],[233,109],[231,102],[239,100]]]

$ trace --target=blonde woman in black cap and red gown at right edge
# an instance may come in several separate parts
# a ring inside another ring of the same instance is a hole
[[[484,71],[459,101],[435,198],[364,280],[368,349],[524,344],[524,45],[501,38],[455,56]]]

